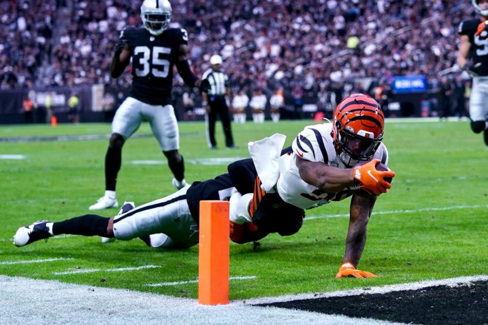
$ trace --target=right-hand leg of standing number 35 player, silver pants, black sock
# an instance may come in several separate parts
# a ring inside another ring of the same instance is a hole
[[[150,117],[153,135],[158,140],[161,150],[168,159],[169,169],[174,175],[172,184],[176,189],[187,185],[185,181],[185,160],[178,152],[179,130],[174,108],[171,105],[155,106]]]

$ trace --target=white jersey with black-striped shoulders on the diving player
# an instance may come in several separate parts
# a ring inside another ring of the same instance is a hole
[[[326,193],[306,183],[301,179],[296,166],[296,156],[299,156],[304,160],[318,161],[340,169],[350,168],[344,165],[335,153],[331,131],[330,123],[307,126],[293,141],[293,153],[280,157],[277,191],[283,201],[302,209],[309,209],[330,201],[341,201],[352,195],[347,189],[337,193]],[[384,144],[378,147],[372,159],[380,159],[383,164],[388,165],[388,151]]]

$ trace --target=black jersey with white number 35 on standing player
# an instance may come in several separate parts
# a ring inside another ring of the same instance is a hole
[[[154,36],[145,28],[128,27],[120,33],[120,43],[127,43],[132,52],[132,89],[129,96],[150,104],[171,102],[173,66],[181,44],[188,44],[185,29],[168,28]]]

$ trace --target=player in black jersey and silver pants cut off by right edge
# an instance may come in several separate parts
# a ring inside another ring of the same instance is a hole
[[[457,64],[473,77],[473,87],[469,100],[469,117],[474,133],[483,132],[484,143],[488,146],[488,0],[472,0],[477,19],[468,19],[459,25],[460,45]]]

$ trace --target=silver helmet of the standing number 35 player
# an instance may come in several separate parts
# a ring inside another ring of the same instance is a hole
[[[144,0],[141,6],[141,19],[152,35],[161,35],[171,21],[171,4],[168,0]]]

